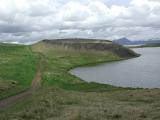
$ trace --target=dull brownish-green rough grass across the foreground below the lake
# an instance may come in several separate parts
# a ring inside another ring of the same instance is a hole
[[[0,116],[4,120],[159,120],[159,94],[156,89],[81,92],[48,87]]]

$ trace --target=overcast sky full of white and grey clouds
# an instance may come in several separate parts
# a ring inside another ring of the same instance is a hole
[[[160,38],[160,0],[0,0],[0,41]]]

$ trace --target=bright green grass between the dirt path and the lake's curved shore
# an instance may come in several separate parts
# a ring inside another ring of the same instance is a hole
[[[105,90],[106,85],[86,83],[68,73],[71,68],[99,62],[121,59],[111,52],[96,52],[73,49],[65,49],[57,45],[40,43],[33,46],[33,50],[45,56],[45,70],[42,75],[43,87],[56,86],[67,90],[96,91]],[[108,85],[108,88],[111,86]]]

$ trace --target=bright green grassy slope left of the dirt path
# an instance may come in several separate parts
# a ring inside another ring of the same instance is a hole
[[[0,44],[0,99],[27,89],[37,63],[29,46]]]

